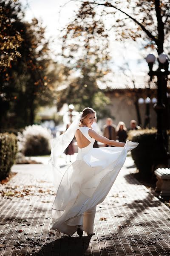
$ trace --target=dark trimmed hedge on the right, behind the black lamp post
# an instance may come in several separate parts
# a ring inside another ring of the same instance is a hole
[[[170,132],[167,132],[170,136]],[[137,148],[131,151],[132,158],[142,176],[151,177],[153,174],[153,164],[159,160],[159,154],[156,154],[156,129],[144,129],[129,131],[127,140],[138,142]],[[169,137],[170,143],[170,137]]]

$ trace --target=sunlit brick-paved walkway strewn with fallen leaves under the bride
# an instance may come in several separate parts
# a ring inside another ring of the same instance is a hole
[[[95,236],[82,238],[49,230],[55,191],[47,162],[13,166],[17,174],[0,186],[0,256],[170,256],[170,209],[129,174],[130,157],[97,207]]]

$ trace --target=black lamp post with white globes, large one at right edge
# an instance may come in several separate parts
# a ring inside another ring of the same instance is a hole
[[[156,134],[156,150],[159,152],[159,159],[156,160],[154,169],[156,167],[163,165],[167,167],[168,165],[168,152],[167,152],[167,127],[164,125],[163,116],[166,110],[164,101],[167,97],[167,76],[169,74],[168,66],[169,61],[167,55],[163,52],[159,55],[158,63],[159,67],[157,70],[153,70],[153,64],[156,61],[156,57],[153,54],[148,54],[146,61],[149,66],[150,81],[152,81],[153,76],[157,76],[157,103],[153,106],[157,113],[157,134]]]

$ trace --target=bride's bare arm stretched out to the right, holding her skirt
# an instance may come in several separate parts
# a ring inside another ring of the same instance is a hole
[[[116,147],[124,147],[126,143],[115,141],[115,140],[109,140],[106,137],[98,134],[96,131],[89,129],[88,134],[90,137],[94,138],[95,140],[106,144],[106,145],[111,145],[111,146],[116,146]]]

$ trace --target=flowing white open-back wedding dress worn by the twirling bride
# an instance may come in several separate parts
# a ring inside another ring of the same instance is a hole
[[[94,139],[88,127],[79,127],[89,140],[85,148],[78,148],[77,160],[62,173],[52,206],[52,230],[72,235],[77,226],[93,233],[96,205],[108,195],[127,152],[139,143],[127,140],[124,147],[93,148]]]

